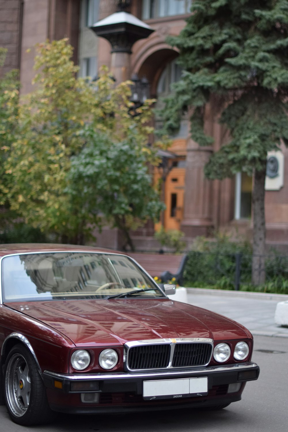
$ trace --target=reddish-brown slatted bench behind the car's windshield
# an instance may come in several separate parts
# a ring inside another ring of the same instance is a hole
[[[162,283],[166,283],[174,277],[179,285],[183,285],[183,272],[188,259],[186,254],[129,252],[128,255],[134,258],[152,277],[160,278]]]

